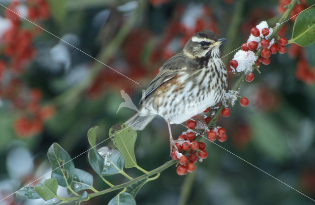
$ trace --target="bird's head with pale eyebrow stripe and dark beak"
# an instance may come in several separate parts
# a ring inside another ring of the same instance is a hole
[[[220,57],[220,45],[226,41],[213,31],[201,31],[192,35],[187,41],[183,53],[189,58],[205,58],[210,53]]]

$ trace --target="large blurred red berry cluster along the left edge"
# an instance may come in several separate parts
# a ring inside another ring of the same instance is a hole
[[[28,88],[21,77],[35,56],[32,40],[39,34],[36,27],[26,28],[21,16],[37,21],[48,19],[49,15],[47,0],[13,0],[1,18],[7,27],[0,36],[0,98],[9,102],[8,110],[14,108],[19,113],[13,123],[17,137],[40,133],[44,120],[55,112],[52,105],[41,106],[42,92]]]

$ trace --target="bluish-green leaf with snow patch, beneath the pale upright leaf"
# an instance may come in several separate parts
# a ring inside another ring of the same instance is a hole
[[[102,175],[112,175],[123,171],[125,160],[119,150],[101,147],[97,151],[104,158]]]

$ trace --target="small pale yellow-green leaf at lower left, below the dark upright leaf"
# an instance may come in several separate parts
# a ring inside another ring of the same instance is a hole
[[[55,178],[46,179],[43,187],[35,186],[35,192],[45,201],[57,196],[58,182]]]

